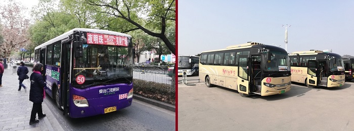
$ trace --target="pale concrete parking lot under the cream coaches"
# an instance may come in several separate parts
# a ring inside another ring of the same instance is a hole
[[[178,85],[179,130],[354,129],[354,82],[336,88],[292,84],[284,94],[249,97],[190,82]]]

